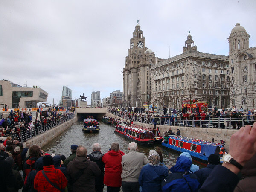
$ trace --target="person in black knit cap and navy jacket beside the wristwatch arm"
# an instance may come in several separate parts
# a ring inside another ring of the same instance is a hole
[[[207,167],[199,169],[198,171],[195,172],[195,175],[197,175],[199,178],[201,186],[203,185],[206,178],[212,172],[212,169],[218,164],[220,164],[220,157],[216,154],[210,154],[210,156],[208,157]]]

